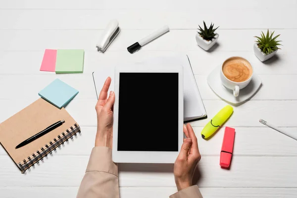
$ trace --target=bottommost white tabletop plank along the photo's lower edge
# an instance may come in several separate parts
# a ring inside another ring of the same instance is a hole
[[[0,187],[4,197],[74,198],[78,187]],[[296,188],[200,188],[203,198],[295,198]],[[175,187],[121,187],[121,198],[167,198]]]

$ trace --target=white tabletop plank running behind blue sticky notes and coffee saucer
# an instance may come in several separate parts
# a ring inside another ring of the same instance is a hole
[[[2,75],[0,84],[8,83],[9,86],[1,88],[0,99],[16,99],[22,96],[22,99],[35,99],[36,93],[41,91],[50,82],[56,78],[61,79],[72,87],[75,87],[80,94],[75,99],[96,99],[95,86],[92,74],[83,75]],[[297,100],[297,92],[294,86],[297,85],[297,74],[295,75],[259,75],[262,79],[262,87],[258,93],[250,100]],[[107,78],[107,76],[106,76]],[[203,100],[220,100],[207,84],[207,75],[195,75],[200,95]],[[28,80],[30,79],[30,80]],[[22,82],[23,88],[20,89],[19,82]],[[36,83],[40,82],[40,83]],[[84,83],[81,83],[84,82]],[[101,85],[98,85],[101,86]],[[11,90],[18,90],[11,92]],[[271,90],[275,90],[272,92]]]

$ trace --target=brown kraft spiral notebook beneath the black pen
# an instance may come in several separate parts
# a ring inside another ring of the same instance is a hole
[[[60,120],[65,123],[35,141],[15,148]],[[77,133],[80,133],[79,125],[64,108],[58,109],[46,100],[38,99],[0,124],[0,144],[24,173]]]

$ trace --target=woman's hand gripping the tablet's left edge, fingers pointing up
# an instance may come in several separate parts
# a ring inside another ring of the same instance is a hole
[[[114,92],[110,92],[107,99],[107,92],[110,83],[111,78],[108,77],[100,91],[99,99],[95,107],[97,111],[97,134],[95,147],[112,148],[113,103],[115,97]]]

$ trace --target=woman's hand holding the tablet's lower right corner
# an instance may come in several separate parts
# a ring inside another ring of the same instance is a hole
[[[192,186],[193,175],[201,158],[198,150],[197,137],[190,124],[184,125],[184,140],[181,151],[174,163],[174,178],[177,190],[183,190]]]

